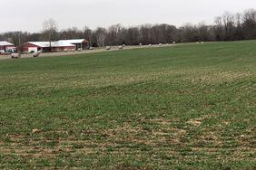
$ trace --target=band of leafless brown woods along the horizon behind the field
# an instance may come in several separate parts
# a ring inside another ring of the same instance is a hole
[[[54,22],[54,21],[52,21]],[[45,28],[44,23],[44,28]],[[184,24],[176,27],[170,24],[143,24],[140,26],[123,27],[115,24],[109,28],[76,27],[58,31],[44,29],[41,33],[9,32],[0,33],[0,40],[14,42],[19,45],[24,42],[51,41],[63,39],[82,39],[90,42],[90,46],[106,45],[138,45],[172,42],[210,42],[256,39],[256,10],[246,10],[243,14],[224,13],[215,18],[212,25]]]

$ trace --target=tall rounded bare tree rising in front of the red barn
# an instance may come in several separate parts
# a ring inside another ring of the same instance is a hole
[[[52,51],[52,40],[54,33],[57,32],[57,22],[54,19],[45,20],[43,23],[44,33],[48,35],[47,39],[50,43],[50,52]]]

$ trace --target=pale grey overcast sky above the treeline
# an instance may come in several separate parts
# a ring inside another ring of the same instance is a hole
[[[225,11],[243,12],[256,0],[0,0],[0,32],[40,32],[53,18],[59,30],[85,25],[212,24]]]

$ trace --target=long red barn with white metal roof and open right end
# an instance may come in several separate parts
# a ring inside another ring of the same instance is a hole
[[[58,42],[25,42],[17,47],[18,52],[62,52],[84,50],[87,47],[85,39],[60,40]]]

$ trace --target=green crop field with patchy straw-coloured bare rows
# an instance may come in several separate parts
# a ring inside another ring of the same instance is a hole
[[[256,41],[0,61],[0,169],[255,169]]]

